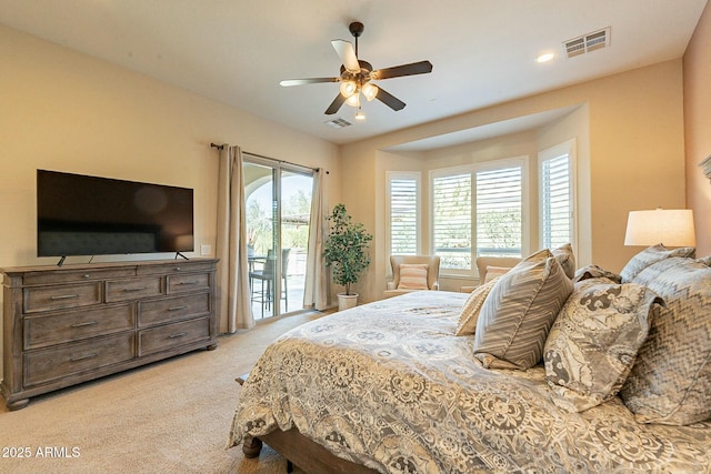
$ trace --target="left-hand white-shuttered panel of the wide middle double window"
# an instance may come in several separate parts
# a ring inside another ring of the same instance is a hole
[[[471,171],[432,179],[432,235],[441,269],[472,268],[471,192]]]

